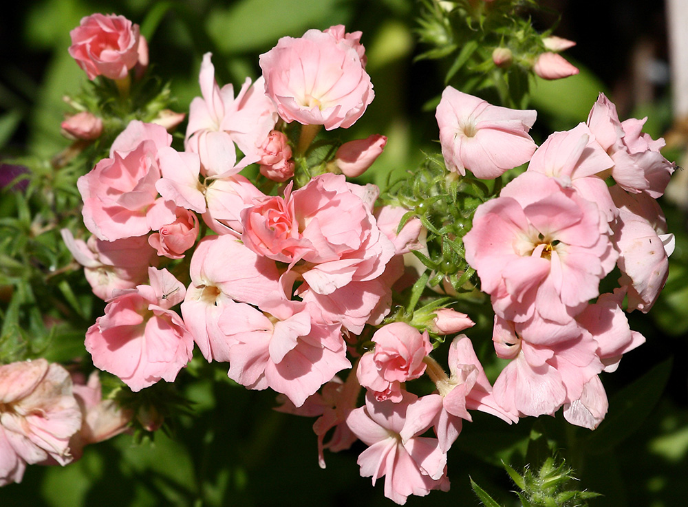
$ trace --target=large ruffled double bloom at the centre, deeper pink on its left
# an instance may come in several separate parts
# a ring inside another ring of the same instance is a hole
[[[378,188],[325,173],[290,189],[284,197],[253,199],[255,205],[241,212],[241,240],[258,255],[289,265],[286,292],[303,280],[297,289],[303,301],[316,303],[328,321],[361,332],[389,310],[394,282],[382,278],[396,252],[372,214]]]

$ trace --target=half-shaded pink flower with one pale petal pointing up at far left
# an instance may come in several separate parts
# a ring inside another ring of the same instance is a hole
[[[68,229],[62,238],[74,259],[84,267],[86,280],[100,299],[110,299],[115,290],[133,289],[148,280],[149,266],[157,266],[158,255],[146,236],[103,241],[74,239]]]

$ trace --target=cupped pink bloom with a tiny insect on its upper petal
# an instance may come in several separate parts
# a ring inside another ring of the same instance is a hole
[[[93,364],[118,376],[132,391],[161,379],[173,382],[191,360],[193,338],[169,310],[184,299],[182,285],[167,270],[149,269],[151,285],[122,291],[86,332]]]

